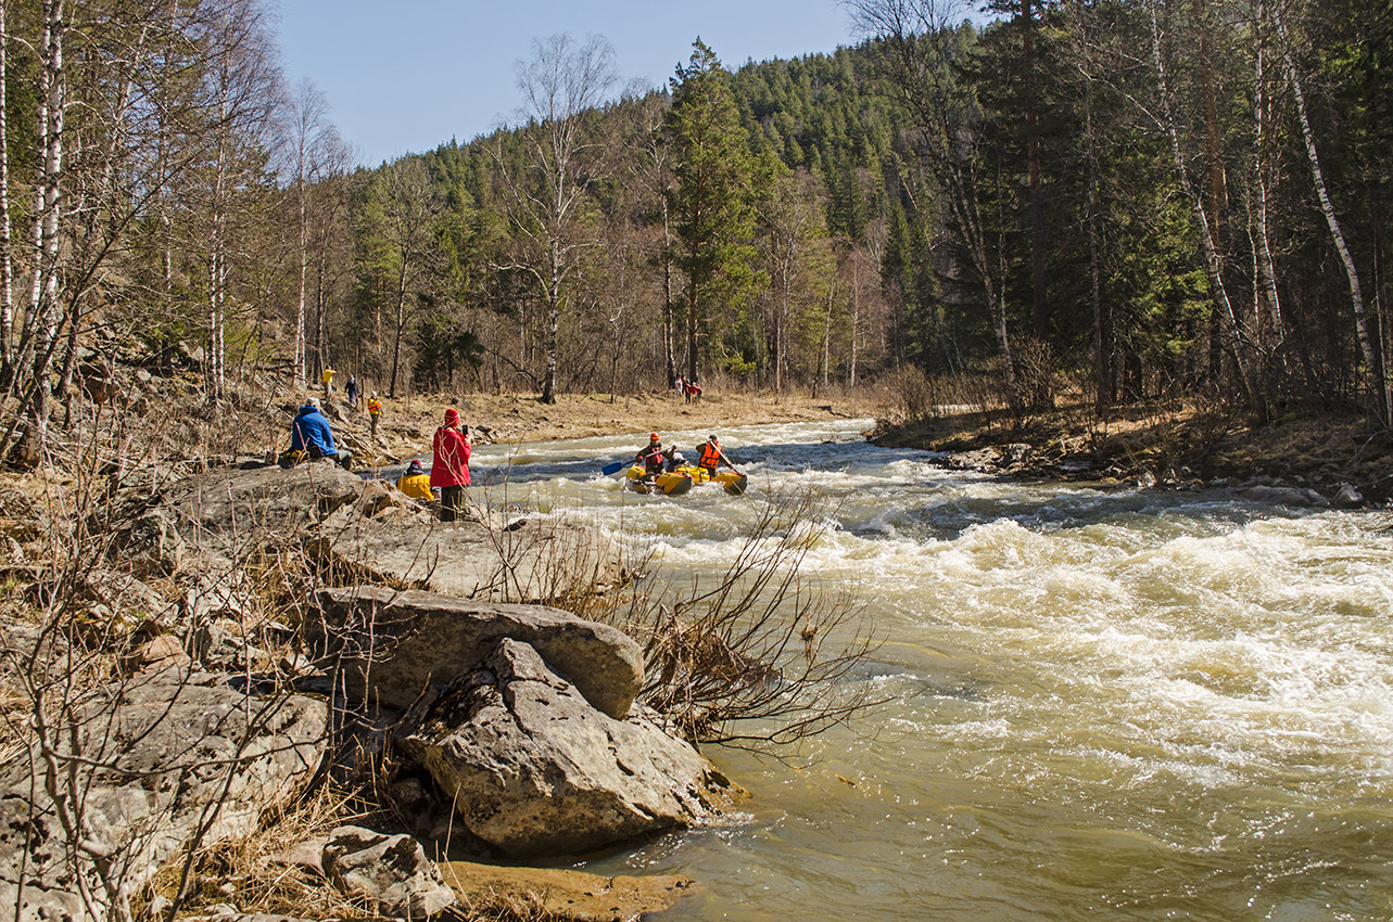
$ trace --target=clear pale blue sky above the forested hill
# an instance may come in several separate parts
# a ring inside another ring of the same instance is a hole
[[[603,35],[621,85],[666,85],[702,40],[736,70],[854,45],[837,0],[270,0],[291,85],[309,78],[329,118],[378,165],[472,140],[518,107],[514,61],[532,39]]]

